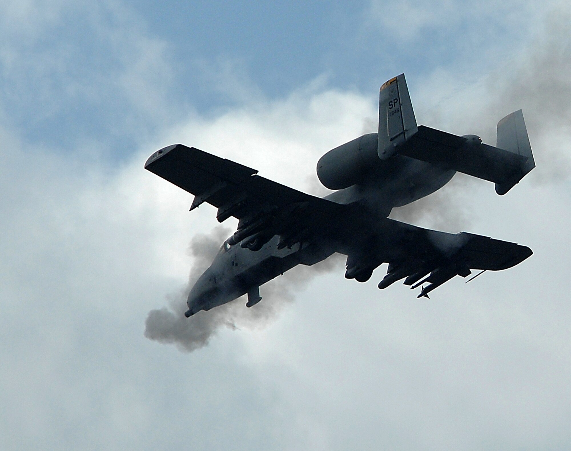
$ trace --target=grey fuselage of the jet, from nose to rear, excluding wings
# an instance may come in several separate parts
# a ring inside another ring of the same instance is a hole
[[[435,192],[455,174],[453,170],[401,155],[384,163],[368,175],[365,183],[335,191],[325,199],[355,205],[352,211],[356,215],[386,218],[393,207],[407,205]],[[344,220],[351,222],[351,218]],[[334,252],[325,242],[311,245],[302,242],[283,249],[278,249],[278,242],[279,237],[274,236],[255,252],[239,244],[230,246],[228,240],[224,242],[211,266],[188,294],[186,315],[210,310],[249,292],[257,293],[259,286],[294,266],[313,265]]]

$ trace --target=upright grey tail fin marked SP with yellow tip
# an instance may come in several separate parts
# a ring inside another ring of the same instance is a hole
[[[377,153],[387,159],[396,153],[395,147],[417,131],[404,74],[383,83],[379,92],[379,141]]]

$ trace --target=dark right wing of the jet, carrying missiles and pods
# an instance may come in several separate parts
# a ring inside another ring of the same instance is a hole
[[[438,232],[389,218],[370,225],[369,230],[375,232],[349,242],[342,250],[348,256],[345,277],[370,277],[372,269],[388,262],[379,288],[403,278],[412,288],[428,282],[419,297],[457,275],[469,276],[471,269],[507,269],[532,255],[531,249],[515,243],[467,232]]]

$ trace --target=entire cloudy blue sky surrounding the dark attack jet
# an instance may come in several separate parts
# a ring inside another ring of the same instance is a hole
[[[403,72],[421,124],[493,145],[521,108],[537,167],[391,217],[533,256],[431,300],[337,257],[181,318],[236,222],[189,213],[148,156],[323,194],[317,159],[376,131]],[[0,449],[569,449],[569,142],[567,2],[3,1]]]

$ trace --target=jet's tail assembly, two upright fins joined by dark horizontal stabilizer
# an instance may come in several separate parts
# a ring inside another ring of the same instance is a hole
[[[457,136],[417,126],[404,74],[381,86],[377,136],[381,160],[399,154],[447,167],[494,182],[500,195],[535,167],[521,110],[498,122],[497,147],[482,143],[476,135]]]

